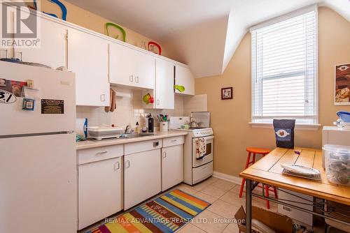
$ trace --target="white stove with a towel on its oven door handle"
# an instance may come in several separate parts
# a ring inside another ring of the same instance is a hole
[[[181,128],[188,123],[190,117],[171,117],[172,130],[188,132],[183,145],[183,182],[193,186],[213,175],[214,171],[214,131],[212,128]],[[201,158],[197,158],[197,140],[204,139],[206,150]]]

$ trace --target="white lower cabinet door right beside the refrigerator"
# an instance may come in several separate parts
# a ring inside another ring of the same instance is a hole
[[[121,157],[78,166],[79,230],[123,209]]]

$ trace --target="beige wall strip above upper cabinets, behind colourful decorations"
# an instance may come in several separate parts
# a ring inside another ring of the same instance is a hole
[[[111,20],[108,20],[104,17],[101,17],[99,15],[95,15],[94,13],[90,13],[87,10],[84,10],[82,8],[79,8],[78,6],[75,6],[71,3],[68,3],[64,0],[60,0],[64,6],[67,8],[67,18],[66,20],[68,22],[71,22],[73,24],[77,24],[81,27],[85,27],[87,29],[90,29],[92,31],[97,31],[102,34],[106,34],[104,24],[106,22],[112,22]],[[48,0],[39,0],[38,2],[38,8],[41,11],[44,11],[46,13],[54,13],[58,17],[62,17],[61,10],[59,6],[55,3],[51,3]],[[118,22],[114,22],[118,24]],[[120,27],[123,27],[123,25],[120,25]],[[141,46],[141,41],[148,41],[152,40],[151,38],[147,38],[146,36],[142,36],[140,33],[137,33],[135,31],[132,31],[130,29],[127,29],[126,27],[123,27],[126,32],[126,42],[130,43],[132,45]],[[115,31],[117,32],[117,31]],[[119,36],[121,38],[121,36]],[[153,40],[154,41],[154,40]],[[164,48],[162,48],[164,50]]]

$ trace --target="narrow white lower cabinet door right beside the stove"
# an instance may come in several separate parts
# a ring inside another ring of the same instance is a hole
[[[183,145],[162,149],[162,191],[183,181]]]

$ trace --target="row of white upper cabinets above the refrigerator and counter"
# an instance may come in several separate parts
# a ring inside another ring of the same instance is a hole
[[[195,80],[186,65],[43,13],[38,20],[40,47],[0,45],[0,58],[7,54],[54,69],[66,66],[76,74],[76,105],[109,106],[110,83],[152,93],[155,103],[148,108],[174,109],[174,93],[195,94]],[[174,91],[174,77],[184,92]]]

